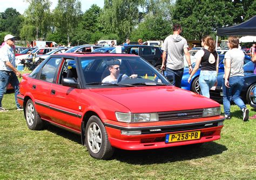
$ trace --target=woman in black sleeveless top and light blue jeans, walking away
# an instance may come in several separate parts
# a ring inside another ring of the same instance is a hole
[[[201,45],[204,49],[199,50],[195,56],[197,59],[196,66],[194,67],[188,83],[190,83],[192,76],[197,72],[201,65],[199,76],[199,85],[201,94],[210,98],[210,89],[213,85],[217,85],[217,75],[219,68],[219,56],[215,51],[215,42],[210,35],[205,35],[201,40]]]

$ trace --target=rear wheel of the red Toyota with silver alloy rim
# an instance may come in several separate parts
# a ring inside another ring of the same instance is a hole
[[[26,103],[25,118],[26,118],[26,125],[28,125],[29,129],[31,130],[43,129],[44,123],[40,118],[39,114],[37,113],[35,104],[32,102],[31,99],[29,99],[28,102]]]

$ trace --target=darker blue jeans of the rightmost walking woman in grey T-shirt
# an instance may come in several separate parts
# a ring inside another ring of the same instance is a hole
[[[230,88],[225,86],[225,79],[223,79],[223,106],[224,112],[227,115],[230,115],[230,102],[233,102],[240,107],[240,109],[245,108],[245,103],[240,98],[240,93],[242,87],[244,86],[245,78],[244,76],[233,76],[228,80]]]

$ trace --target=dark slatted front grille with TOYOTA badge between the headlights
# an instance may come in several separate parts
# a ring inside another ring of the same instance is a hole
[[[158,112],[159,121],[193,119],[202,116],[203,109]]]

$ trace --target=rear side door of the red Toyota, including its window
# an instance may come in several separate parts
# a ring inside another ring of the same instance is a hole
[[[52,103],[50,97],[51,85],[55,81],[56,72],[61,57],[51,57],[42,67],[37,78],[31,83],[31,93],[35,98],[38,113],[43,119],[51,120],[49,106]]]

